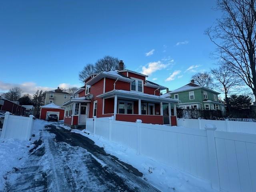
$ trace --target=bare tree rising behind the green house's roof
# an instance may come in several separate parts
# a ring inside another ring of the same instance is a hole
[[[196,73],[191,77],[191,80],[194,80],[195,84],[204,86],[208,89],[214,88],[212,77],[208,72]]]

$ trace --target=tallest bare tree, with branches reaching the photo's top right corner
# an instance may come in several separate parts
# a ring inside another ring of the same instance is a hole
[[[227,63],[256,97],[256,0],[218,0],[223,12],[206,34],[217,46],[216,56]]]

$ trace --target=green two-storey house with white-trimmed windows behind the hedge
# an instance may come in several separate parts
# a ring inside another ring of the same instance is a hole
[[[206,109],[225,111],[225,105],[218,102],[218,92],[194,84],[192,80],[189,84],[176,90],[163,94],[163,97],[170,97],[179,100],[177,107],[183,109]]]

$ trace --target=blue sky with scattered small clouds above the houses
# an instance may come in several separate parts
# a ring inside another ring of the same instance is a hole
[[[215,1],[2,1],[0,92],[81,86],[78,72],[105,55],[170,90],[209,70],[215,46],[204,35]]]

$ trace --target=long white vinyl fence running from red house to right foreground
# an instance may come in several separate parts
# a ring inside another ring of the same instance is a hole
[[[256,135],[87,118],[86,130],[228,192],[256,191]]]

